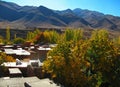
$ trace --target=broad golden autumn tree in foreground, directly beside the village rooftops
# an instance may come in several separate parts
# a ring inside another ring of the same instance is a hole
[[[86,73],[90,63],[85,60],[87,41],[59,43],[44,62],[44,69],[65,87],[86,87],[91,80]]]

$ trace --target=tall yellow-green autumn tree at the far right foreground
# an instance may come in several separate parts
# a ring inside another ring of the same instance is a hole
[[[96,75],[97,86],[120,86],[120,54],[118,46],[109,38],[107,30],[96,30],[89,40],[86,59],[91,64],[91,75]]]

